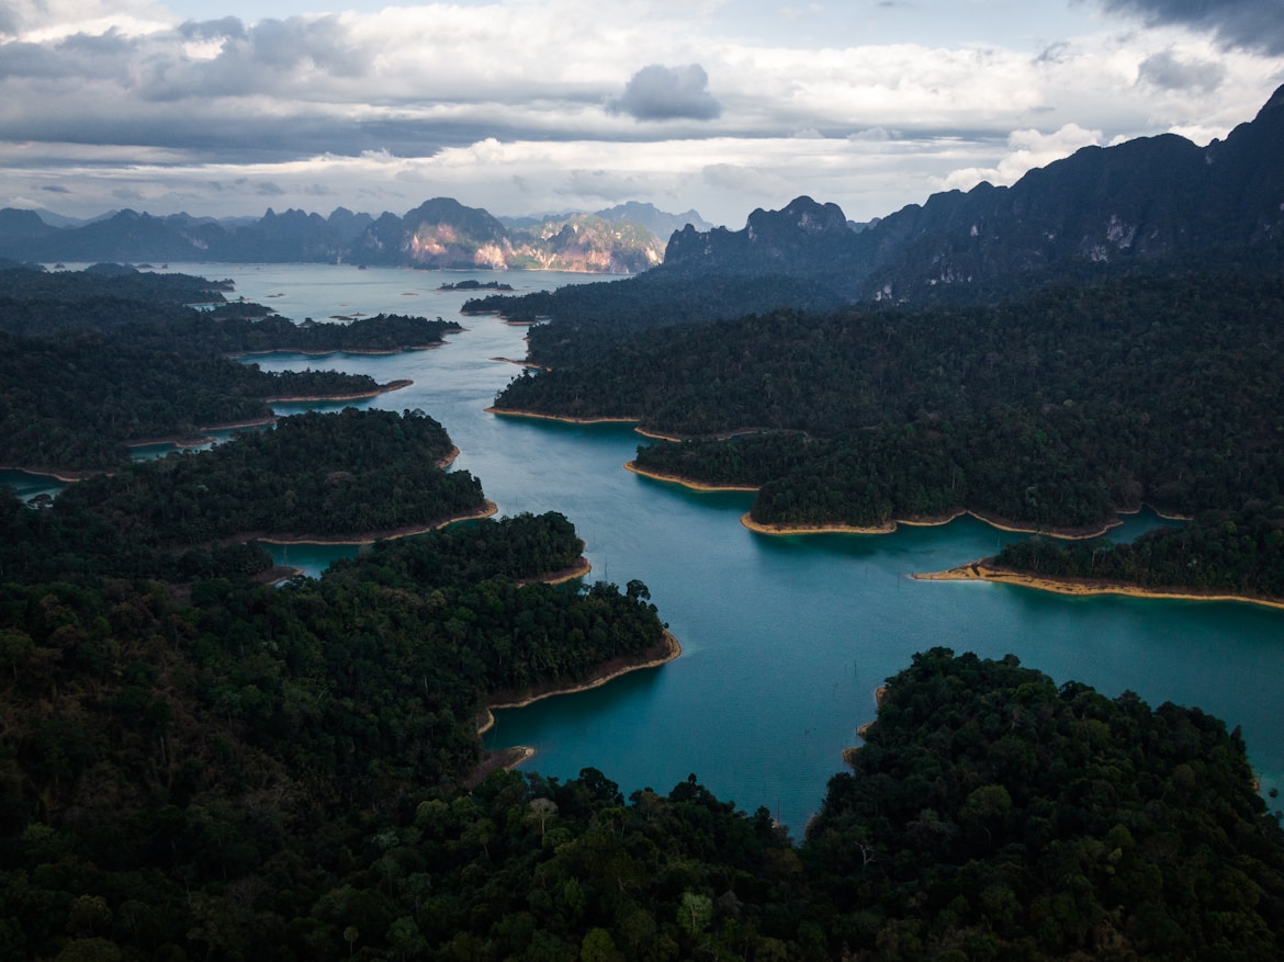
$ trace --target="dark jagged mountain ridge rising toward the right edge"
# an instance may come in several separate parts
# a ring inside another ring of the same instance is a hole
[[[847,228],[847,230],[845,230]],[[1225,141],[1143,137],[1084,148],[1012,187],[936,194],[850,230],[833,204],[755,210],[742,231],[686,228],[664,274],[815,278],[836,298],[971,299],[1094,268],[1280,268],[1284,87]]]

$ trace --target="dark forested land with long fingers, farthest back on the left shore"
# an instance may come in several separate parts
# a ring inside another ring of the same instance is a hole
[[[60,476],[114,469],[127,445],[200,440],[265,423],[270,401],[354,400],[394,390],[365,375],[267,373],[229,355],[394,353],[462,330],[377,314],[294,323],[227,303],[230,281],[122,269],[0,269],[0,466]],[[191,307],[187,299],[211,301]]]

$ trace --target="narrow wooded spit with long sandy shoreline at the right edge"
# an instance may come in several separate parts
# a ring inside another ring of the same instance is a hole
[[[1207,511],[1189,525],[1156,528],[1130,544],[1018,541],[990,563],[1050,580],[1284,599],[1284,504]]]

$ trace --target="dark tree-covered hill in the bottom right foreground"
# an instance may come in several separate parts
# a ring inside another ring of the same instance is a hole
[[[933,649],[808,830],[858,958],[1271,959],[1284,835],[1238,730]]]

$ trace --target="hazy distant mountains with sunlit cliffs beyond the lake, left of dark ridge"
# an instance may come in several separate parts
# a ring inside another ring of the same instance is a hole
[[[55,218],[50,218],[55,219]],[[655,267],[665,240],[683,224],[707,230],[700,214],[668,214],[650,204],[597,213],[501,222],[449,198],[404,215],[303,210],[257,221],[121,210],[58,226],[35,210],[0,209],[0,258],[18,262],[356,263],[460,269],[553,269],[637,273]]]

